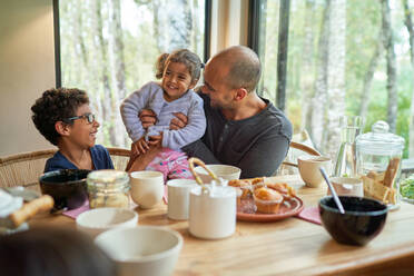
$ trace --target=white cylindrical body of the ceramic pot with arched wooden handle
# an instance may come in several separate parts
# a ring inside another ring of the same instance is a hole
[[[209,186],[209,185],[208,185]],[[190,191],[189,231],[205,239],[231,236],[236,231],[236,189],[229,186],[196,187]]]

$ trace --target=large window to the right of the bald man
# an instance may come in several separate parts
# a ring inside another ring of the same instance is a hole
[[[257,49],[264,61],[259,92],[285,107],[296,132],[306,129],[319,150],[334,155],[341,139],[339,116],[361,115],[364,131],[371,131],[376,120],[385,120],[391,131],[405,138],[404,157],[408,157],[408,149],[414,151],[414,142],[408,144],[414,138],[410,111],[414,1],[258,2]],[[280,49],[286,12],[288,43]],[[280,50],[287,50],[286,89],[278,87],[284,85],[278,76]],[[277,102],[283,97],[276,91],[285,91],[285,102]]]

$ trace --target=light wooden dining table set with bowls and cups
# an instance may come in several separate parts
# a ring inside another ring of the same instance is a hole
[[[293,186],[305,207],[317,206],[326,187],[308,188],[298,175],[273,177]],[[414,275],[414,205],[388,211],[382,233],[366,246],[337,244],[321,225],[297,217],[268,223],[237,221],[225,239],[193,237],[188,221],[171,220],[167,206],[142,210],[138,225],[169,227],[184,237],[174,275]],[[42,214],[36,226],[76,229],[72,218]]]

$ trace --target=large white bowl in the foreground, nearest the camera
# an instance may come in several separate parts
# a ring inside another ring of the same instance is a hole
[[[117,264],[119,275],[171,275],[183,247],[177,231],[159,226],[112,229],[95,243]]]

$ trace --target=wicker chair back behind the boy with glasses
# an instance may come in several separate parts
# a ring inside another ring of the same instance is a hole
[[[38,150],[0,157],[0,187],[33,186],[43,174],[46,160],[57,149]],[[125,170],[129,160],[129,150],[108,148],[115,169]]]

